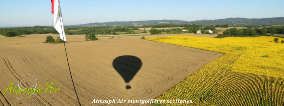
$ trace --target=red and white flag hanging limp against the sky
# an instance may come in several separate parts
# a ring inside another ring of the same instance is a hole
[[[60,39],[66,41],[59,0],[51,0],[51,13],[53,14],[54,17],[53,20],[54,28],[60,34]]]

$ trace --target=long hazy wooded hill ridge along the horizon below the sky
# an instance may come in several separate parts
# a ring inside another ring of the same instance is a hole
[[[146,20],[146,21],[116,21],[105,23],[88,23],[80,25],[68,26],[143,26],[154,24],[198,24],[203,26],[229,24],[230,26],[246,26],[246,25],[284,25],[284,17],[274,18],[225,18],[218,20],[196,20],[196,21],[183,21],[183,20]]]

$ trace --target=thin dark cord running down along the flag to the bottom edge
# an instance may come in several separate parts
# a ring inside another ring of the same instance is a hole
[[[76,94],[76,97],[78,99],[78,102],[79,102],[79,105],[81,106],[81,103],[80,103],[80,100],[78,98],[78,94],[77,94],[77,91],[76,91],[76,88],[75,88],[75,85],[74,85],[74,81],[73,81],[73,78],[72,78],[72,74],[71,74],[71,70],[70,70],[70,65],[69,65],[69,61],[68,61],[68,57],[67,57],[67,52],[66,52],[66,46],[65,46],[65,40],[64,40],[64,36],[63,36],[63,28],[62,28],[62,22],[61,22],[61,9],[59,8],[59,5],[58,5],[58,9],[59,9],[59,20],[60,20],[60,26],[61,26],[61,32],[62,32],[62,38],[63,38],[63,42],[64,42],[64,49],[65,49],[65,54],[66,54],[66,59],[67,59],[67,64],[68,64],[68,68],[69,68],[69,72],[70,72],[70,76],[71,76],[71,80],[72,80],[72,83],[73,83],[73,87],[74,87],[74,90],[75,90],[75,94]],[[63,19],[62,19],[63,21]],[[60,33],[59,33],[60,34]],[[65,34],[65,31],[64,31],[64,34]]]

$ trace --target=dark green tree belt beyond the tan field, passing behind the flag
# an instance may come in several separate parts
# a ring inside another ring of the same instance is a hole
[[[111,27],[111,26],[97,26],[97,27],[64,27],[64,31],[68,35],[90,34],[96,35],[110,35],[117,34],[115,32],[125,32],[124,34],[135,33],[134,30],[139,30],[138,27]],[[15,27],[15,28],[0,28],[0,34],[6,37],[28,35],[28,34],[45,34],[53,33],[59,34],[52,26],[33,26],[33,27]],[[141,33],[146,33],[143,31]]]

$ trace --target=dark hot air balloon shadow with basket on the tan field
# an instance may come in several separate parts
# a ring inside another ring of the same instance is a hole
[[[142,66],[142,61],[135,56],[124,55],[116,57],[112,62],[113,68],[120,74],[126,84],[126,89],[130,89],[129,81],[133,79],[135,74]]]

